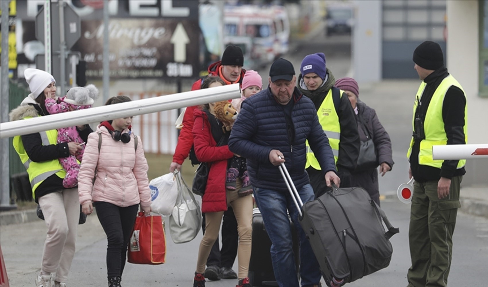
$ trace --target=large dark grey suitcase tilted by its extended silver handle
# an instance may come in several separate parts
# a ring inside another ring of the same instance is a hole
[[[290,193],[297,198],[285,164],[280,170]],[[389,223],[385,212],[363,188],[333,185],[316,200],[303,204],[298,197],[295,204],[328,286],[353,282],[389,265],[393,248],[388,239],[399,229]]]

